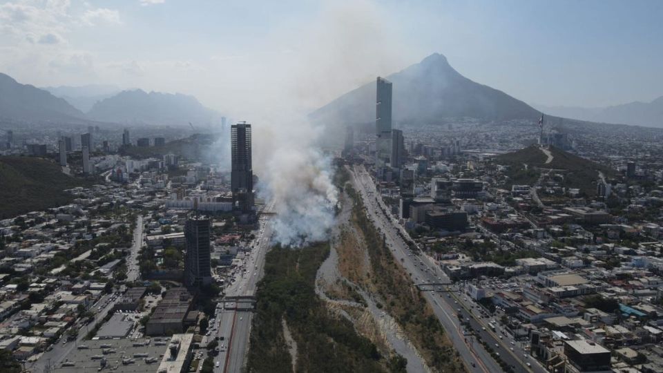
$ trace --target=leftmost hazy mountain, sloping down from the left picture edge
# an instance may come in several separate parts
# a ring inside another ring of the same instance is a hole
[[[80,122],[85,114],[65,99],[0,73],[0,118],[27,121]]]

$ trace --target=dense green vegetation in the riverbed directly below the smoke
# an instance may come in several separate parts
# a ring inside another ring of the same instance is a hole
[[[302,249],[276,247],[267,253],[258,285],[247,372],[292,372],[283,335],[285,318],[297,343],[297,371],[385,372],[385,361],[352,323],[330,312],[316,296],[316,271],[329,245]],[[394,361],[396,367],[402,362]]]

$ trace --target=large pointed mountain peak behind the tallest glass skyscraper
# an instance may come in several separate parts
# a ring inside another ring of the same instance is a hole
[[[541,115],[501,90],[463,77],[438,53],[386,79],[393,83],[394,122],[436,123],[450,117],[536,120]],[[374,122],[375,95],[375,82],[368,82],[314,111],[311,119],[329,124]]]

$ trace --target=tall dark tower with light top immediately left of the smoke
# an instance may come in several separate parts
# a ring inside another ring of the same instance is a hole
[[[233,204],[250,213],[253,207],[253,168],[251,166],[251,124],[231,126],[231,189]]]

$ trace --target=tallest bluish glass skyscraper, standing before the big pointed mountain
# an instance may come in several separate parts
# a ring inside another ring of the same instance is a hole
[[[376,166],[385,166],[392,144],[392,82],[378,77],[375,104]]]

